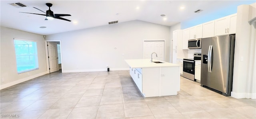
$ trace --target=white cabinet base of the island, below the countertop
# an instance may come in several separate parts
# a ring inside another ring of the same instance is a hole
[[[157,68],[131,68],[130,75],[146,97],[177,95],[180,90],[178,66]]]

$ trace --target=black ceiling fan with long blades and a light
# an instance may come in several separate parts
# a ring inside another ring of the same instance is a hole
[[[53,14],[53,11],[50,10],[50,7],[52,6],[51,3],[46,3],[46,6],[49,7],[49,10],[47,10],[46,12],[36,8],[37,10],[40,10],[41,12],[44,12],[45,14],[37,14],[37,15],[43,15],[46,16],[45,20],[52,20],[52,19],[60,19],[60,20],[65,20],[65,21],[71,21],[71,20],[67,20],[65,18],[61,18],[62,16],[71,16],[70,14]],[[35,7],[33,7],[35,8]],[[28,12],[21,12],[21,13],[28,13]],[[28,13],[28,14],[36,14],[36,13]]]

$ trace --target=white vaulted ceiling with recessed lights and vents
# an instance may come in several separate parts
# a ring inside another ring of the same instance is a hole
[[[15,2],[21,2],[28,7],[16,8],[9,4]],[[228,14],[230,8],[236,10],[240,4],[253,2],[255,0],[1,0],[0,25],[40,35],[108,25],[109,21],[117,20],[118,23],[141,20],[171,26],[179,22],[204,18],[209,14]],[[45,16],[20,13],[44,14],[33,7],[46,11],[46,3],[53,4],[51,10],[54,14],[71,14],[63,18],[72,21],[44,20]],[[181,6],[185,8],[181,10]],[[203,11],[194,13],[198,9]],[[166,16],[162,17],[161,14]],[[41,26],[46,28],[39,28]]]

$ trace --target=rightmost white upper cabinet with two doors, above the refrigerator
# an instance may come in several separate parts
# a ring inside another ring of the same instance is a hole
[[[232,33],[236,33],[236,14],[215,20],[215,36]]]

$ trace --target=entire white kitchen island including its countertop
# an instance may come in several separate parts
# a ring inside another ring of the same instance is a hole
[[[144,97],[172,96],[180,91],[180,66],[150,59],[125,60],[130,75]],[[155,63],[156,61],[162,63]]]

